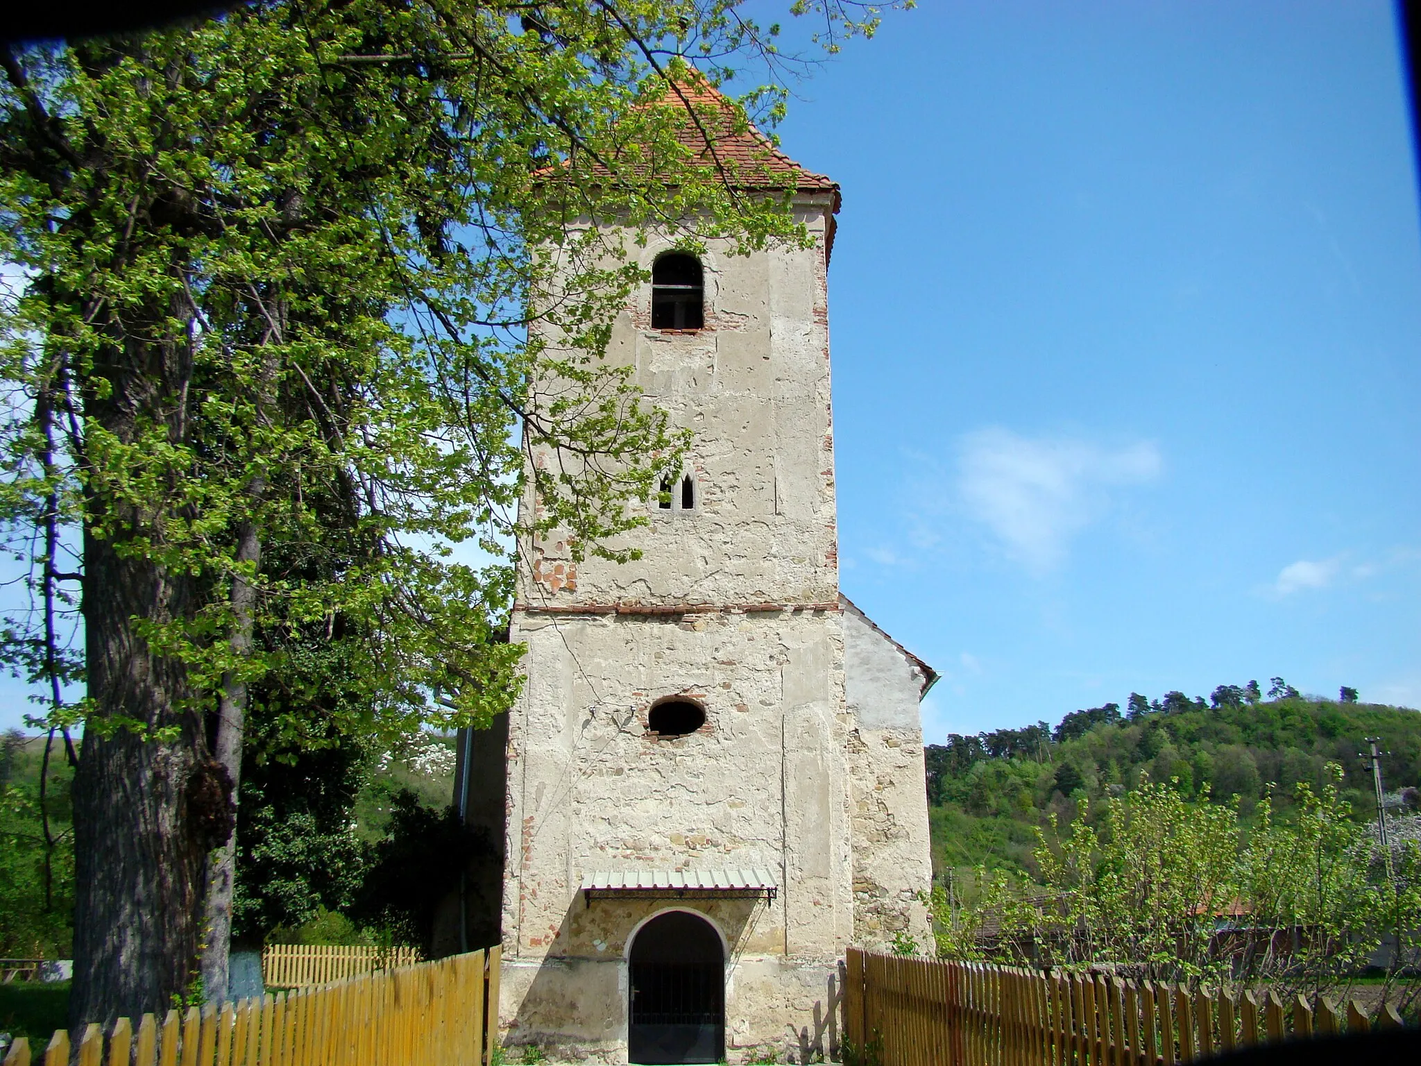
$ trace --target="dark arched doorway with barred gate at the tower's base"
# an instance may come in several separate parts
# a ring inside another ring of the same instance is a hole
[[[725,1057],[725,951],[705,918],[658,914],[631,942],[627,1057],[635,1063]]]

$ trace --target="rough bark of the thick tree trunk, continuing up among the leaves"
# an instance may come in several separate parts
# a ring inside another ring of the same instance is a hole
[[[179,306],[146,323],[112,323],[95,360],[85,416],[119,441],[146,425],[189,435],[190,337]],[[145,340],[136,340],[144,337]],[[180,659],[162,655],[136,623],[192,615],[196,588],[134,536],[162,544],[162,505],[125,500],[92,482],[84,523],[88,696],[74,777],[74,984],[70,1028],[105,1026],[172,1005],[198,972],[206,854],[232,833],[230,782],[207,753],[203,708]],[[119,547],[95,533],[107,522]]]

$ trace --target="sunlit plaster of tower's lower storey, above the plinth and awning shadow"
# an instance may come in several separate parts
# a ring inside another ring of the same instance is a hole
[[[585,873],[764,867],[782,891],[762,949],[837,957],[853,930],[840,634],[836,611],[516,615],[506,954],[554,948]],[[647,714],[668,695],[706,725],[657,739]]]

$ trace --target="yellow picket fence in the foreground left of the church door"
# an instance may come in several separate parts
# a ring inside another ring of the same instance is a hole
[[[70,1066],[492,1066],[499,948],[237,1003],[54,1033],[37,1062]],[[18,1039],[4,1066],[30,1066]]]

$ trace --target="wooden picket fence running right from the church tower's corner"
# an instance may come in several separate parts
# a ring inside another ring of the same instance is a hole
[[[881,1066],[1174,1066],[1256,1043],[1367,1030],[1356,1003],[1189,994],[1104,975],[848,949],[844,1039]],[[1400,1026],[1395,1011],[1376,1019]]]

